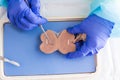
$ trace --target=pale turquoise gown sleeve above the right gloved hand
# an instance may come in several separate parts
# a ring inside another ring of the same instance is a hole
[[[119,0],[93,0],[91,14],[96,14],[114,23],[120,23]]]

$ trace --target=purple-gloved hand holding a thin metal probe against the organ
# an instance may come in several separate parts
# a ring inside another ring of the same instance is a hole
[[[24,0],[8,0],[7,16],[23,30],[32,30],[47,21],[40,16],[40,0],[28,0],[28,5]]]

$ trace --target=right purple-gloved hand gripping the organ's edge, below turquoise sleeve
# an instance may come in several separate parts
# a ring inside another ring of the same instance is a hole
[[[85,42],[76,43],[76,51],[68,53],[66,55],[67,58],[76,58],[98,53],[110,37],[113,25],[114,23],[92,14],[80,24],[68,28],[67,31],[71,34],[85,33],[87,37]]]

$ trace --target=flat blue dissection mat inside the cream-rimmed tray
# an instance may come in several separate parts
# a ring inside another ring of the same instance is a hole
[[[67,27],[78,24],[80,21],[48,22],[44,28],[61,32]],[[53,54],[44,54],[39,50],[41,44],[41,29],[23,31],[11,24],[4,25],[4,56],[20,63],[16,67],[4,63],[6,76],[30,76],[49,74],[74,74],[95,72],[95,55],[76,59],[67,59],[58,51]]]

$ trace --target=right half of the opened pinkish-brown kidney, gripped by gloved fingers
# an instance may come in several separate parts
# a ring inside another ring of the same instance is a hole
[[[75,51],[76,46],[73,43],[74,39],[75,36],[73,34],[68,33],[66,30],[62,31],[58,37],[59,51],[63,54]]]

